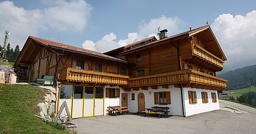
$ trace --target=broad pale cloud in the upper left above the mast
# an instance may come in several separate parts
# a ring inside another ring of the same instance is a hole
[[[42,10],[26,10],[11,1],[0,2],[0,40],[3,40],[5,30],[10,30],[12,47],[16,44],[23,46],[28,35],[37,35],[38,30],[47,30],[49,26],[57,30],[84,30],[92,9],[86,1],[44,0],[44,4],[46,2],[51,4]]]

